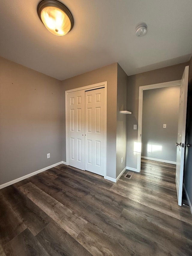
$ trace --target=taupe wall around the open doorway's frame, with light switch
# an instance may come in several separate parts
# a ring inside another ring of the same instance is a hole
[[[134,155],[134,141],[137,142],[138,130],[133,130],[133,125],[138,125],[139,87],[155,83],[180,80],[185,66],[189,63],[160,68],[128,77],[128,101],[127,110],[127,166],[137,168],[137,155]]]

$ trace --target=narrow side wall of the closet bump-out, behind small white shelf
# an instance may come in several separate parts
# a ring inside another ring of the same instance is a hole
[[[127,115],[120,114],[120,110],[127,110],[127,79],[125,71],[118,64],[117,67],[117,142],[116,142],[116,177],[126,167],[127,148]],[[123,163],[121,158],[123,157]]]

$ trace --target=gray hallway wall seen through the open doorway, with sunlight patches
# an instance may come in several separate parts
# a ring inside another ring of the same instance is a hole
[[[143,91],[142,156],[176,162],[179,93],[180,86]],[[148,145],[153,145],[153,152],[148,152]]]

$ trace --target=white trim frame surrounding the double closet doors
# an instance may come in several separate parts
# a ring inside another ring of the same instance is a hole
[[[104,179],[107,179],[107,81],[103,83],[96,83],[88,86],[83,86],[65,91],[65,125],[66,125],[66,164],[68,165],[68,115],[67,115],[67,96],[72,92],[89,91],[98,88],[104,88]]]

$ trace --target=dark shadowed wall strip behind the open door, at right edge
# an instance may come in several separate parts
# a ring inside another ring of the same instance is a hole
[[[192,145],[192,57],[189,62],[189,86],[187,98],[186,143]],[[192,146],[185,147],[184,185],[192,204]]]

